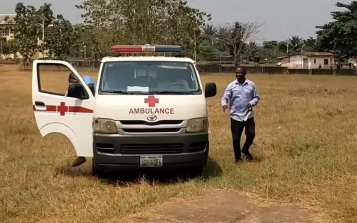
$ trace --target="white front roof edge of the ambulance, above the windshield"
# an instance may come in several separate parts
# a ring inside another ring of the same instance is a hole
[[[174,57],[174,56],[106,56],[103,57],[102,62],[115,61],[172,61],[172,62],[191,62],[195,61],[188,57]]]

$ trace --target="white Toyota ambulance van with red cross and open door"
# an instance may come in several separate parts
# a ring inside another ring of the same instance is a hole
[[[175,56],[181,46],[111,50],[119,56],[101,59],[94,93],[70,63],[34,60],[32,103],[41,135],[66,136],[78,157],[92,158],[94,175],[145,168],[202,174],[209,154],[206,98],[216,95],[216,84],[203,88],[195,61]],[[43,65],[66,66],[79,81],[63,94],[46,92]]]

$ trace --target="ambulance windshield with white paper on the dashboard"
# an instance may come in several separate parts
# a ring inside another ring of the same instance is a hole
[[[197,75],[190,62],[105,62],[99,93],[199,94]]]

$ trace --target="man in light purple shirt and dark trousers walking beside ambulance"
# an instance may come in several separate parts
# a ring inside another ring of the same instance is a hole
[[[236,80],[227,86],[221,99],[224,112],[228,109],[227,103],[230,101],[231,131],[236,162],[242,161],[240,137],[244,127],[246,140],[241,152],[249,161],[253,160],[252,155],[249,153],[249,147],[255,137],[255,122],[252,108],[259,102],[255,84],[253,81],[245,79],[245,73],[242,67],[236,68]]]

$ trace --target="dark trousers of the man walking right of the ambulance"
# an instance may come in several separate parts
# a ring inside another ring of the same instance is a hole
[[[246,121],[236,121],[231,118],[231,131],[233,138],[233,148],[235,153],[235,158],[240,159],[240,137],[245,127],[245,136],[246,140],[244,146],[241,150],[243,154],[249,154],[249,147],[253,143],[255,137],[255,122],[254,118],[248,118]]]

